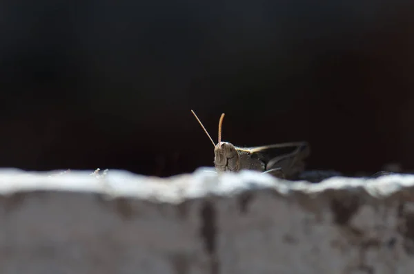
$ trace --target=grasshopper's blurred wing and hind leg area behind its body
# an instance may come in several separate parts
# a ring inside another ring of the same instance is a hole
[[[251,158],[257,158],[264,162],[266,171],[282,168],[286,177],[294,176],[304,169],[304,158],[311,149],[306,142],[282,143],[265,145],[262,147],[249,147]]]

